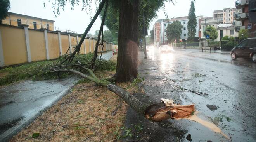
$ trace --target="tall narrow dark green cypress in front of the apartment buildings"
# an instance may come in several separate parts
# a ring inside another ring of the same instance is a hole
[[[197,21],[195,16],[195,5],[194,2],[191,1],[191,5],[189,8],[189,22],[187,25],[188,28],[188,41],[193,41],[196,34]]]

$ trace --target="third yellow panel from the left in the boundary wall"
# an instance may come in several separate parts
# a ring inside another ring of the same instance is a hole
[[[56,59],[60,55],[58,34],[47,33],[50,59]]]

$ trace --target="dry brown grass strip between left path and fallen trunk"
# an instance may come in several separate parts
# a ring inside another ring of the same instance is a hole
[[[101,73],[100,77],[106,78],[114,71]],[[118,85],[131,93],[136,92],[131,83]],[[10,142],[115,141],[121,135],[127,106],[107,88],[92,82],[80,82]],[[33,138],[34,133],[40,135]]]

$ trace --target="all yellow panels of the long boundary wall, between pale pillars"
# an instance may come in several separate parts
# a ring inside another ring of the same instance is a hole
[[[24,28],[0,25],[3,56],[5,66],[27,63],[27,51],[26,51],[26,39]],[[31,52],[31,61],[42,61],[46,60],[46,47],[45,47],[45,36],[42,30],[28,30],[29,34],[29,45]],[[48,48],[50,59],[59,57],[59,38],[58,34],[54,32],[47,32]],[[81,40],[78,37],[78,40]],[[85,39],[86,54],[90,52],[89,39]],[[96,42],[96,41],[95,41]],[[76,37],[71,36],[71,43],[76,46]],[[69,48],[68,35],[61,34],[62,54],[67,52]],[[104,51],[106,51],[106,43],[104,44]],[[91,40],[91,49],[93,52],[93,40]],[[99,51],[101,51],[99,49]],[[68,52],[69,53],[69,52]],[[85,54],[84,44],[81,44],[80,54]]]

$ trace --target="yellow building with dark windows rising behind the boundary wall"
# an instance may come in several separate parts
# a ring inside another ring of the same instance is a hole
[[[41,29],[54,30],[53,20],[42,19],[38,17],[32,17],[28,15],[16,14],[8,12],[8,17],[2,20],[3,24],[20,26],[22,24],[28,25],[29,29]]]

